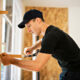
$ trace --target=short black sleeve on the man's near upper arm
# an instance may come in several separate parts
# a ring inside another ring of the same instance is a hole
[[[52,54],[57,46],[58,41],[59,37],[56,36],[56,34],[53,32],[47,33],[42,39],[40,52]]]

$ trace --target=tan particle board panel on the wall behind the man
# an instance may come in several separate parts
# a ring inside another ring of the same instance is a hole
[[[67,8],[48,8],[48,7],[26,7],[25,11],[30,9],[38,9],[43,12],[45,22],[55,25],[68,33],[68,9]],[[32,34],[24,30],[24,47],[32,45]],[[40,71],[40,80],[59,80],[61,68],[57,60],[51,58],[48,63]],[[32,80],[31,72],[23,72],[23,80]]]

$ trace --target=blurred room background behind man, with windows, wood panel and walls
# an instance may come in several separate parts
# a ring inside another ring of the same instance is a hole
[[[28,33],[27,28],[18,28],[24,13],[30,9],[42,11],[46,23],[68,33],[80,47],[80,0],[0,0],[0,10],[8,11],[6,15],[0,14],[0,53],[22,55],[25,47],[43,37]],[[0,64],[1,80],[59,80],[60,73],[55,58],[51,58],[40,72]]]

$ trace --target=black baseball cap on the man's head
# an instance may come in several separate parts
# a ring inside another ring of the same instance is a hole
[[[36,9],[29,10],[24,14],[23,21],[18,25],[19,28],[24,28],[25,24],[28,23],[31,19],[41,18],[43,20],[42,12]]]

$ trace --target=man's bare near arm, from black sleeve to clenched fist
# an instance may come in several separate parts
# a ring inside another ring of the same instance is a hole
[[[11,58],[9,55],[4,55],[2,56],[1,61],[4,65],[9,65],[10,63],[28,71],[40,71],[50,57],[51,54],[39,53],[35,60],[18,60]]]

